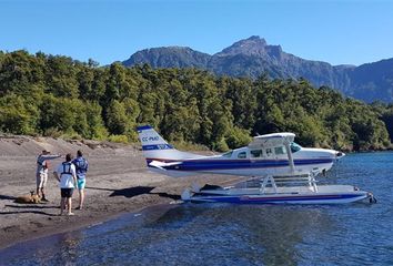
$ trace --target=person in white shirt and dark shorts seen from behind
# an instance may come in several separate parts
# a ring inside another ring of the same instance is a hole
[[[77,182],[77,171],[75,165],[72,164],[71,154],[66,155],[66,162],[59,164],[56,172],[53,172],[54,177],[60,182],[60,215],[67,207],[67,215],[73,215],[72,213],[72,194],[73,188],[78,188]]]

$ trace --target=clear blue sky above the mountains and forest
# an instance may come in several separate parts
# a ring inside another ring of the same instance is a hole
[[[213,54],[250,35],[332,64],[393,58],[393,1],[0,0],[3,51],[108,64],[152,47]]]

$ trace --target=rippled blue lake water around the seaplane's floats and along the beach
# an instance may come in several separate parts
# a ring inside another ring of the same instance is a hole
[[[155,206],[2,249],[0,264],[393,265],[393,153],[350,154],[321,178],[377,203]]]

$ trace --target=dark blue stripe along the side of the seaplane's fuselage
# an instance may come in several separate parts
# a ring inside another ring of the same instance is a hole
[[[148,158],[147,161],[149,165],[149,163],[153,160]],[[308,164],[328,164],[332,162],[333,158],[303,158],[294,160],[294,165],[299,166]],[[284,166],[289,166],[288,160],[190,160],[182,161],[182,163],[178,165],[164,166],[164,168],[174,171],[212,171],[231,168],[269,168]]]

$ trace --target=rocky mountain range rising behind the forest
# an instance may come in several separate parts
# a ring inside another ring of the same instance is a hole
[[[148,63],[153,68],[200,68],[219,75],[272,79],[304,78],[315,86],[328,85],[366,102],[393,102],[393,59],[355,65],[332,65],[286,53],[263,38],[250,37],[213,55],[191,48],[169,47],[139,51],[123,61],[127,66]]]

